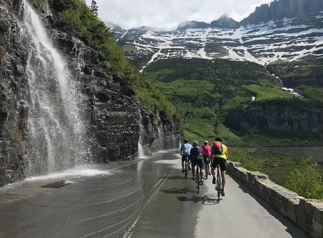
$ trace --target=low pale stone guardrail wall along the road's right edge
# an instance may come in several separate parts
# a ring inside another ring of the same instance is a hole
[[[323,238],[323,201],[301,197],[238,162],[227,161],[227,171],[311,237]]]

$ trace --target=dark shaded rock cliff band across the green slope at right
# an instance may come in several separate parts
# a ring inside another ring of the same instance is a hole
[[[256,107],[229,115],[225,124],[238,131],[291,129],[323,132],[323,114],[320,110],[295,110],[279,106]]]

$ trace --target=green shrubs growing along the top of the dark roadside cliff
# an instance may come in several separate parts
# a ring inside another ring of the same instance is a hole
[[[33,0],[41,1],[41,0]],[[110,28],[81,0],[50,0],[58,13],[57,27],[83,40],[99,53],[100,64],[107,74],[123,74],[132,85],[141,102],[151,111],[159,110],[171,118],[178,116],[178,110],[168,98],[139,73],[125,57],[122,49],[112,37]]]

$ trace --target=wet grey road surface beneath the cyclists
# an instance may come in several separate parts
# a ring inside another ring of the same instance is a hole
[[[174,153],[11,202],[19,191],[5,194],[0,237],[307,237],[228,175],[220,203],[211,179],[197,194]]]

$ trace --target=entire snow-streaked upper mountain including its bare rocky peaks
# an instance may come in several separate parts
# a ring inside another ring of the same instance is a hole
[[[301,9],[299,13],[297,9]],[[270,7],[260,6],[241,23],[223,15],[210,27],[192,21],[173,31],[147,27],[117,27],[112,31],[126,56],[141,69],[159,59],[178,57],[224,58],[265,65],[322,57],[322,18],[323,6],[318,0],[284,0]]]

